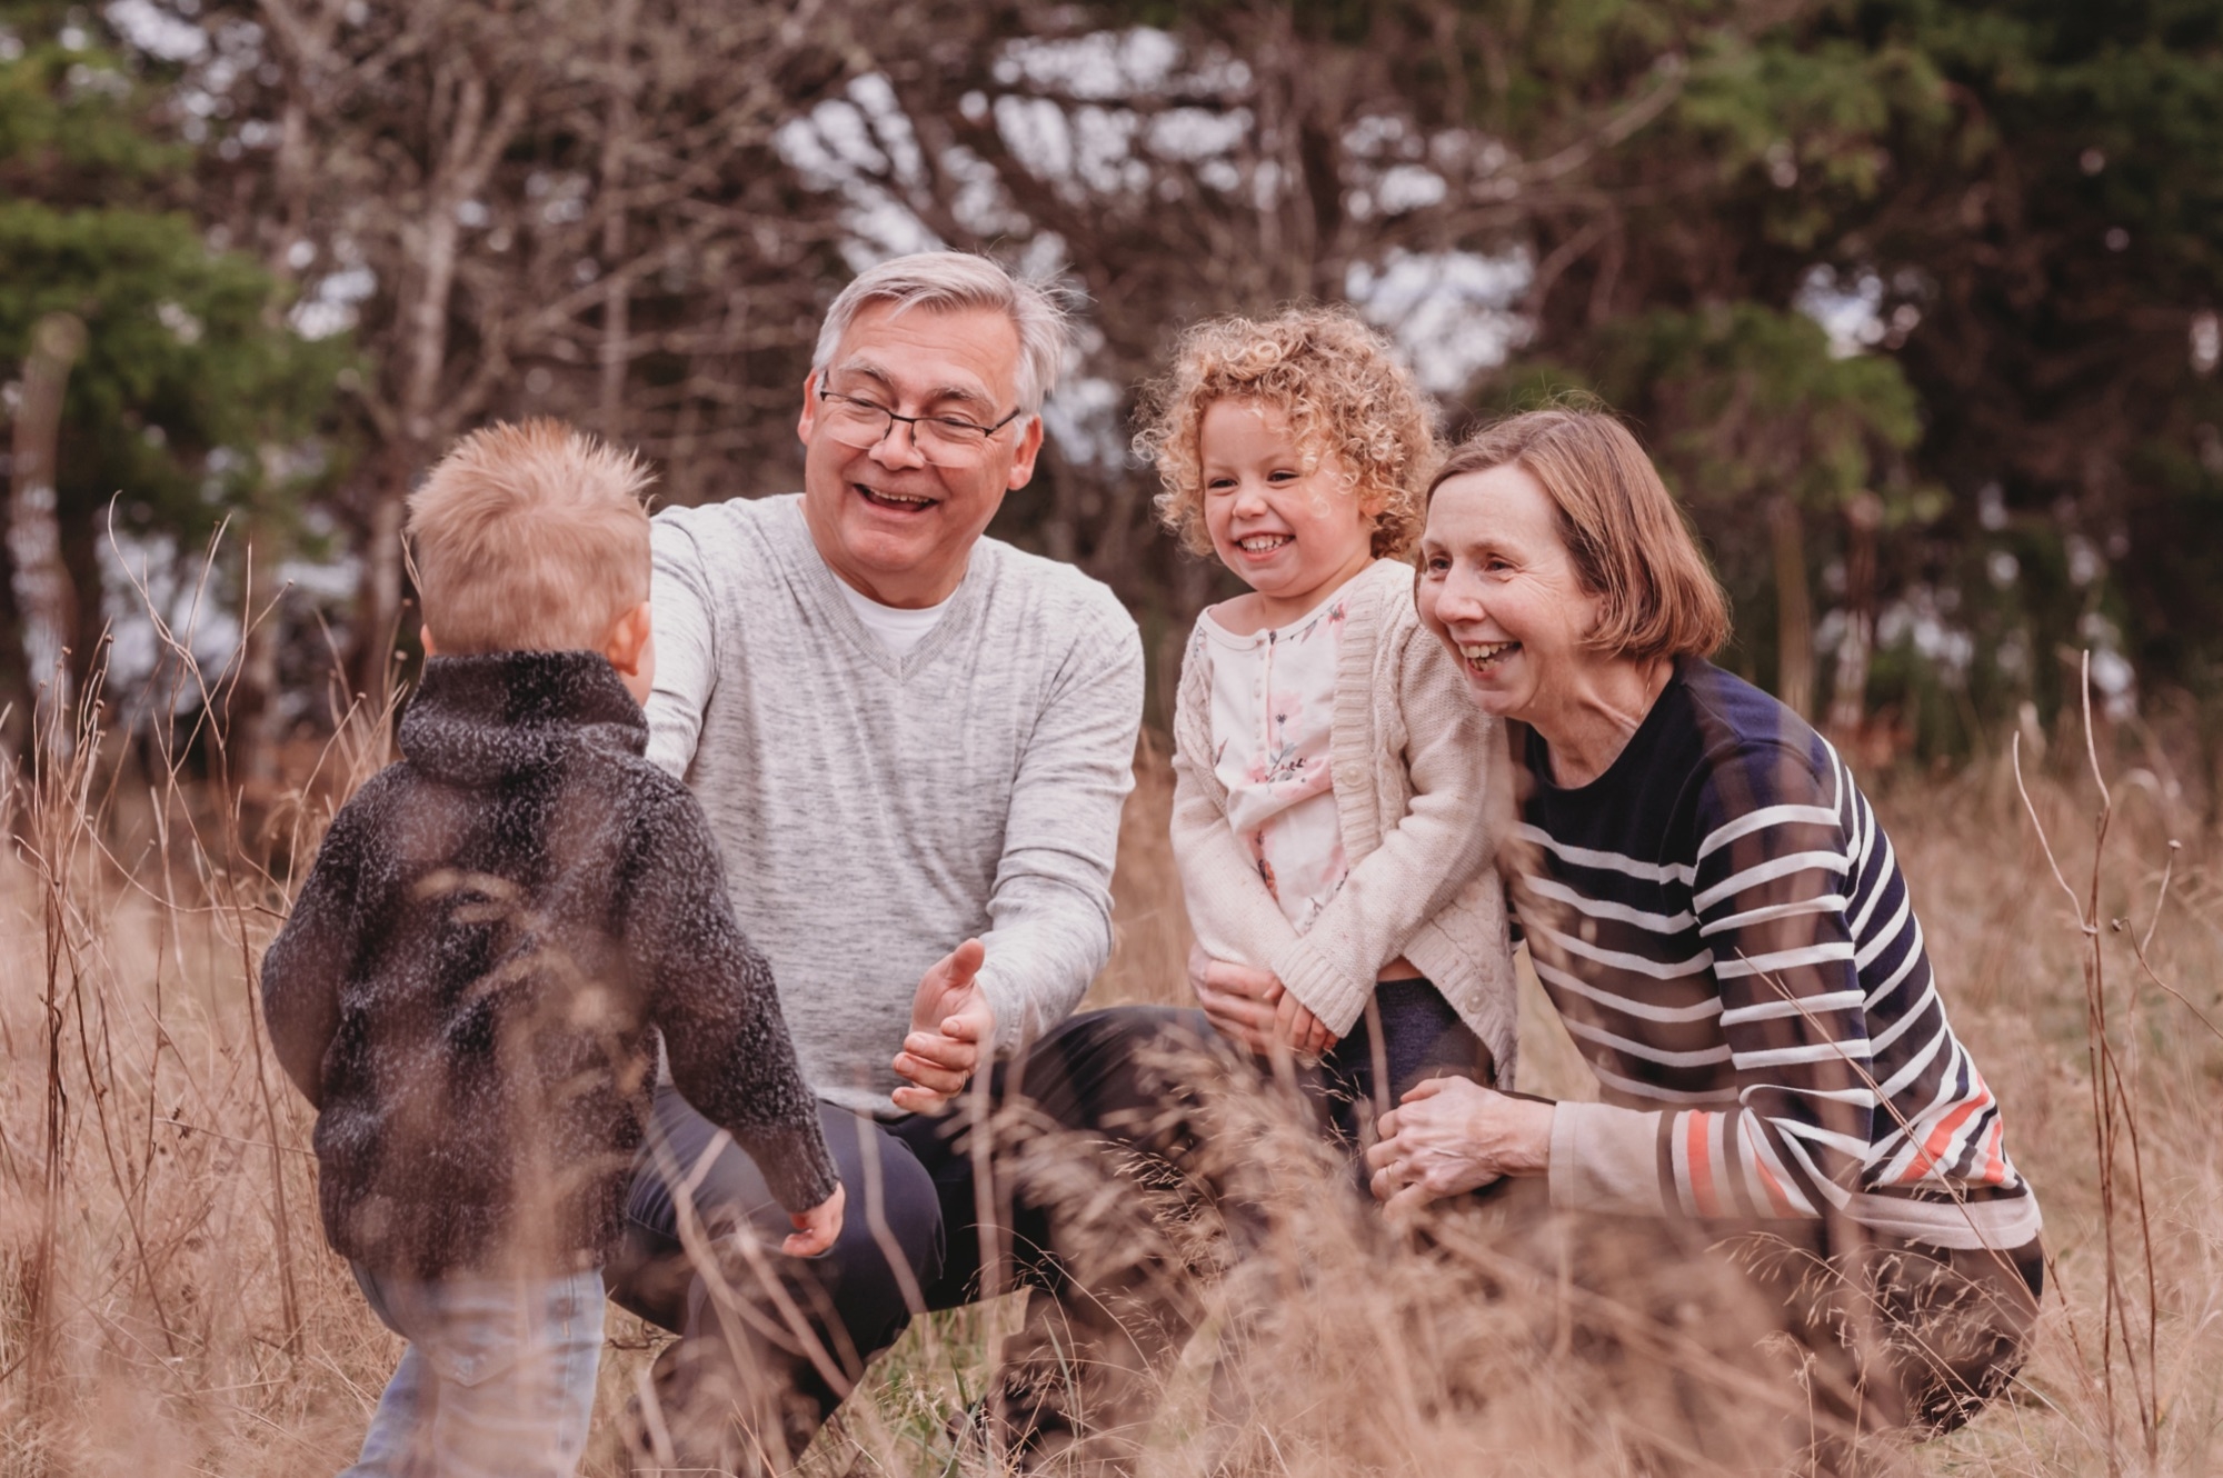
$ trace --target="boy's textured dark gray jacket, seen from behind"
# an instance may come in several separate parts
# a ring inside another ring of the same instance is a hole
[[[834,1162],[702,809],[589,651],[433,658],[402,762],[340,809],[262,958],[318,1107],[331,1245],[378,1271],[580,1269],[616,1242],[654,1076],[780,1205]]]

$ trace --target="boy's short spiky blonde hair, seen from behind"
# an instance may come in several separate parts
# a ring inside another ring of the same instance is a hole
[[[649,469],[560,420],[465,436],[409,493],[442,653],[596,651],[649,598]]]

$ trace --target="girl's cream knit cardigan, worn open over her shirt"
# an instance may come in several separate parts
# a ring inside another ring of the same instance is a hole
[[[1487,782],[1503,731],[1420,625],[1409,565],[1376,560],[1345,589],[1327,749],[1349,876],[1305,933],[1274,902],[1227,825],[1212,769],[1212,649],[1192,640],[1174,711],[1174,858],[1189,925],[1212,958],[1272,969],[1338,1038],[1365,1013],[1380,967],[1405,956],[1512,1087],[1514,965],[1492,865],[1512,813],[1505,787]]]

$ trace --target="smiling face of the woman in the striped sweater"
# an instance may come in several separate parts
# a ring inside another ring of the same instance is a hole
[[[1534,722],[1612,660],[1583,645],[1603,600],[1583,589],[1552,496],[1516,462],[1436,489],[1416,598],[1485,713]]]

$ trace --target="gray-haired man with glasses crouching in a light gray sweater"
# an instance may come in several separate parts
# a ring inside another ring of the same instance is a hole
[[[818,338],[803,493],[656,520],[649,758],[711,818],[851,1216],[823,1260],[776,1269],[785,1300],[760,1287],[738,1311],[722,1287],[747,1265],[689,1262],[678,1202],[711,1234],[771,1231],[780,1211],[667,1087],[614,1285],[682,1334],[667,1396],[698,1400],[665,1407],[722,1411],[738,1394],[756,1405],[749,1440],[774,1449],[767,1389],[787,1387],[794,1449],[916,1307],[978,1296],[983,1211],[1020,1269],[1051,1267],[1025,1254],[1056,1240],[1054,1218],[1025,1191],[1000,1209],[1009,1180],[976,1185],[976,1073],[1000,1102],[1023,1056],[1036,1120],[1085,1131],[1149,1098],[1132,1049],[1160,1018],[1067,1020],[1112,945],[1140,640],[1096,580],[985,538],[1034,476],[1063,353],[1056,304],[994,262],[885,262]],[[1063,1294],[1060,1274],[1045,1282]],[[711,1376],[738,1385],[705,1402]],[[1069,1416],[1018,1411],[1036,1440]]]

